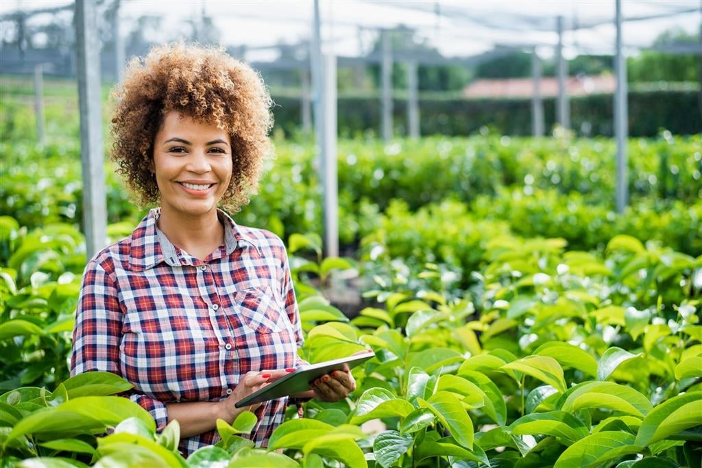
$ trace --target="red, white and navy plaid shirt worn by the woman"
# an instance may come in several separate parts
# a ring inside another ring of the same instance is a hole
[[[166,403],[220,401],[249,371],[300,363],[298,308],[282,241],[219,212],[225,245],[204,261],[156,226],[159,209],[132,235],[88,262],[77,308],[71,374],[109,371],[134,385],[132,401],[159,430]],[[249,436],[265,446],[287,399],[256,410]],[[216,443],[216,430],[180,441],[187,456]]]

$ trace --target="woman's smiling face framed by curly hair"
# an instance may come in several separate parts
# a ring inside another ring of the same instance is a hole
[[[225,130],[176,111],[154,138],[153,170],[161,216],[183,221],[215,216],[232,179],[232,142]]]

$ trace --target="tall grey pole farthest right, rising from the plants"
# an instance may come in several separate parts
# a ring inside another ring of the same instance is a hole
[[[614,132],[616,134],[616,209],[623,213],[628,205],[627,155],[628,109],[626,85],[626,61],[622,50],[621,0],[616,0],[616,92],[614,94]]]

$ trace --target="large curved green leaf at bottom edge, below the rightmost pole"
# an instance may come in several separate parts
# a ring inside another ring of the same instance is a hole
[[[628,432],[603,431],[590,434],[568,447],[556,460],[554,468],[597,467],[623,455],[639,453],[634,436]]]

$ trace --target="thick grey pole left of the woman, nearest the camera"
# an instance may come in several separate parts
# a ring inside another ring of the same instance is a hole
[[[95,8],[94,1],[76,1],[83,223],[88,259],[107,244],[107,203],[100,111],[100,43]]]

